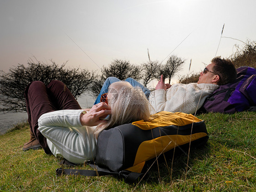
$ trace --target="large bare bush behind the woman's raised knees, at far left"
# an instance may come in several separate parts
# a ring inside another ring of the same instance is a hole
[[[0,111],[26,111],[24,90],[32,81],[42,81],[46,85],[51,80],[62,81],[76,99],[89,91],[97,77],[95,73],[80,68],[66,68],[66,63],[58,66],[53,61],[48,65],[30,60],[27,67],[19,64],[8,72],[1,71]]]

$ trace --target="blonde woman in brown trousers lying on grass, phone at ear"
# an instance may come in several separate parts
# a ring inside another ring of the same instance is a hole
[[[81,109],[61,81],[51,81],[47,87],[41,81],[33,81],[27,86],[25,97],[31,140],[23,150],[36,149],[40,144],[46,154],[73,163],[93,160],[102,130],[149,118],[143,91],[124,81],[113,83],[102,102],[88,110]],[[102,120],[109,114],[109,121]]]

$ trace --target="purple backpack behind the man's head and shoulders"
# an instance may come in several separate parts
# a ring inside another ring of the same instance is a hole
[[[256,69],[239,67],[233,83],[220,86],[205,99],[203,112],[234,113],[256,110]]]

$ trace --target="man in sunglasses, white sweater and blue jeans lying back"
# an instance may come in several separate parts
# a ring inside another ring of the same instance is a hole
[[[211,63],[200,72],[197,83],[174,85],[165,84],[163,76],[155,87],[155,91],[150,92],[133,78],[128,78],[132,86],[141,88],[144,94],[149,98],[151,104],[150,113],[154,114],[158,111],[195,113],[197,109],[203,105],[205,98],[213,93],[220,85],[228,84],[236,80],[236,68],[228,59],[215,57]],[[102,86],[100,95],[94,104],[100,102],[101,95],[108,91],[108,86],[116,81],[120,81],[116,77],[108,77]]]

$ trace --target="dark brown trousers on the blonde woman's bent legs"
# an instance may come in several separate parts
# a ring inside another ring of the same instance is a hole
[[[31,82],[25,90],[28,122],[46,154],[51,154],[46,137],[38,131],[38,119],[47,112],[62,109],[81,109],[75,97],[61,81],[51,81],[46,85],[41,81]]]

